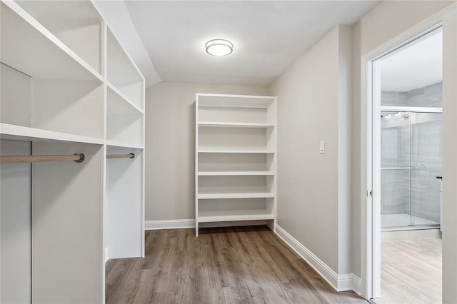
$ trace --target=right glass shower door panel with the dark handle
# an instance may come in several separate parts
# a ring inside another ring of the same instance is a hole
[[[440,224],[441,113],[411,115],[411,225]]]

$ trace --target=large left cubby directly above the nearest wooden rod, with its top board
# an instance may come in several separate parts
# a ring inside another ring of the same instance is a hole
[[[16,2],[0,5],[0,122],[103,138],[104,79]]]

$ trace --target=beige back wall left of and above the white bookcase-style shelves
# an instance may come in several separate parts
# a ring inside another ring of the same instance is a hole
[[[267,88],[161,82],[146,90],[146,221],[195,218],[195,93]]]

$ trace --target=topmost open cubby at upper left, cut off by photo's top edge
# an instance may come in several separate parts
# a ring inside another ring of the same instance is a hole
[[[91,1],[16,3],[101,74],[102,20]]]

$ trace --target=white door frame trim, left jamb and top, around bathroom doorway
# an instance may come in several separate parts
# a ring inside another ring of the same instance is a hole
[[[373,51],[361,57],[361,295],[364,298],[378,298],[381,293],[381,212],[379,204],[380,181],[373,174],[376,166],[379,166],[376,159],[380,160],[378,148],[380,142],[376,143],[379,119],[374,119],[376,113],[380,113],[380,103],[376,102],[373,96],[373,83],[376,75],[373,75],[373,64],[376,60],[392,53],[406,44],[411,43],[430,31],[441,27],[443,15],[456,5],[448,6],[443,11],[422,21],[413,28],[379,46]],[[376,70],[376,69],[374,69]],[[379,69],[378,69],[379,70]],[[377,116],[379,118],[379,116]],[[380,136],[377,136],[379,138]],[[373,195],[371,195],[373,193]],[[376,203],[376,201],[378,201]]]

